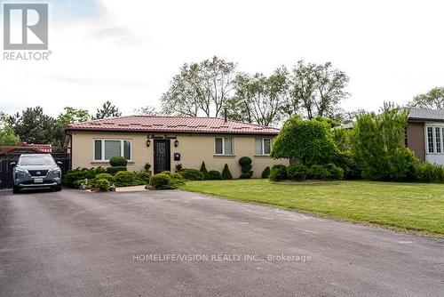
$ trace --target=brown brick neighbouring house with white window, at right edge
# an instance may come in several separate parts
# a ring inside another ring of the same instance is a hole
[[[405,140],[419,159],[444,165],[444,110],[410,108]]]

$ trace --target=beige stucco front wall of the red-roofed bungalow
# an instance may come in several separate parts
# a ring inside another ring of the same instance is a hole
[[[241,166],[238,164],[240,157],[251,157],[253,160],[253,177],[260,177],[266,166],[274,164],[288,165],[288,160],[274,160],[268,156],[255,156],[255,140],[261,136],[243,135],[200,135],[200,134],[178,134],[178,148],[174,147],[174,140],[170,140],[171,171],[175,165],[181,163],[185,168],[199,169],[202,161],[205,162],[207,170],[222,171],[227,164],[234,178],[241,175]],[[233,137],[234,156],[215,156],[214,138],[220,136]],[[266,136],[264,136],[266,137]],[[154,165],[154,141],[147,148],[147,133],[128,132],[72,132],[72,167],[96,167],[108,166],[107,162],[96,162],[93,160],[94,139],[132,140],[132,160],[128,163],[128,170],[142,170],[149,162]],[[180,161],[173,161],[173,154],[179,152]],[[154,169],[153,167],[151,168]]]

